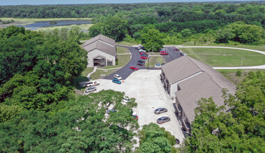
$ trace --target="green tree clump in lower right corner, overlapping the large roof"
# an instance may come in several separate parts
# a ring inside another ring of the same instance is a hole
[[[216,107],[213,100],[202,99],[195,108],[191,136],[185,141],[189,152],[264,152],[265,151],[265,77],[250,72],[235,95]]]

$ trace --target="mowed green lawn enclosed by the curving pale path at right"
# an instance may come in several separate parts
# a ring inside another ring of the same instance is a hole
[[[212,67],[240,67],[265,64],[265,55],[253,51],[239,49],[216,49],[216,48],[181,48],[184,53],[192,58],[207,63]]]

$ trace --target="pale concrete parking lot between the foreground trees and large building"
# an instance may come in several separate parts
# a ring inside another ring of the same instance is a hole
[[[181,142],[184,139],[184,134],[180,128],[180,124],[175,117],[174,100],[171,100],[169,95],[163,89],[163,84],[160,81],[161,70],[138,70],[133,72],[122,84],[113,83],[109,79],[97,79],[100,85],[96,86],[97,91],[100,90],[116,90],[125,92],[129,97],[135,97],[138,104],[134,110],[138,113],[138,123],[140,126],[156,122],[162,116],[170,117],[171,121],[160,124],[160,127],[165,127],[166,131],[178,138]],[[168,112],[159,115],[154,114],[154,110],[159,107],[168,108]]]

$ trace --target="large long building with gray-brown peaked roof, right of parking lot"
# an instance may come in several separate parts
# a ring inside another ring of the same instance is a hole
[[[172,99],[184,131],[191,131],[194,109],[201,98],[212,97],[217,106],[224,105],[223,88],[234,94],[236,86],[211,66],[189,56],[182,56],[161,67],[161,81]]]

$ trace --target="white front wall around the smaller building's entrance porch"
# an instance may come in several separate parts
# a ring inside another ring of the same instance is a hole
[[[112,65],[115,65],[115,61],[116,61],[115,56],[112,56],[110,54],[106,54],[105,52],[99,51],[98,49],[94,49],[94,50],[88,52],[88,65],[87,65],[87,67],[94,67],[93,59],[99,55],[106,58],[106,63],[108,63],[107,60],[109,58],[112,58]]]

